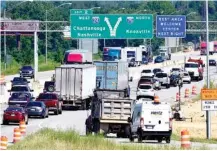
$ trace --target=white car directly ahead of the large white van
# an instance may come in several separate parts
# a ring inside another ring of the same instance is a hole
[[[155,96],[152,84],[140,84],[137,89],[137,96]]]

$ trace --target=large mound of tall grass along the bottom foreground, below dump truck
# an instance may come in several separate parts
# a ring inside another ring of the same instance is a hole
[[[180,150],[170,144],[156,147],[139,144],[117,144],[103,136],[80,136],[73,130],[42,129],[27,136],[23,141],[9,146],[9,150]],[[195,148],[196,149],[196,148]],[[201,147],[197,149],[206,149]]]

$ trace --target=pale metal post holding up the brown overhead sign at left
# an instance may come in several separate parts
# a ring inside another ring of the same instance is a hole
[[[37,80],[38,75],[38,35],[34,31],[34,81]]]

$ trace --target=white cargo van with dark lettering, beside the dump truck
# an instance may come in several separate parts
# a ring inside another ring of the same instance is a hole
[[[130,141],[163,140],[170,143],[172,110],[169,103],[139,100],[136,102],[130,123]]]

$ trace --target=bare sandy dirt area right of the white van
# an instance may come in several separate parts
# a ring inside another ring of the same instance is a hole
[[[190,132],[190,137],[206,138],[206,112],[201,111],[201,102],[185,103],[182,105],[182,113],[184,117],[192,117],[193,122],[173,121],[173,133],[180,136],[183,129]],[[211,135],[212,138],[217,138],[217,112],[211,112]]]

